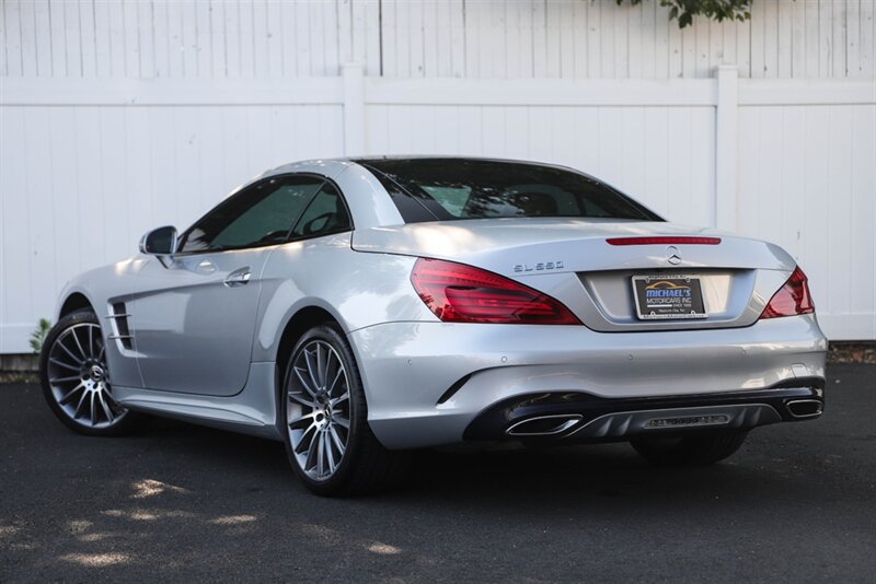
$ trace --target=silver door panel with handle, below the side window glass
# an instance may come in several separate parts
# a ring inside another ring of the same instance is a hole
[[[218,396],[243,389],[269,254],[260,247],[143,262],[125,304],[146,387]]]

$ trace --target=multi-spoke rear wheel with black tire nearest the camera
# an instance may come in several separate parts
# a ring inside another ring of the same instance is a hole
[[[316,326],[299,339],[280,398],[286,453],[308,489],[343,497],[392,484],[404,455],[371,432],[356,360],[334,327]]]

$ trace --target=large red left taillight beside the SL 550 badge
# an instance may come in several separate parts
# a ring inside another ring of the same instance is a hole
[[[580,325],[558,301],[519,282],[464,264],[419,258],[411,283],[445,323]]]

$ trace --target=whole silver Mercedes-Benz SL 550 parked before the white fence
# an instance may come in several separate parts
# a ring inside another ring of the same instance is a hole
[[[74,278],[56,319],[41,374],[71,429],[157,414],[280,440],[321,494],[459,443],[708,464],[823,405],[827,340],[787,253],[534,163],[280,166]]]

